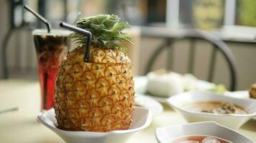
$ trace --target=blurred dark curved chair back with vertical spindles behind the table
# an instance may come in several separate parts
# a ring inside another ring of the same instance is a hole
[[[221,54],[223,54],[224,59],[227,61],[227,66],[229,66],[229,90],[234,91],[237,84],[237,66],[234,61],[234,55],[232,54],[232,51],[230,51],[229,46],[224,43],[224,41],[221,41],[217,36],[214,36],[213,34],[209,34],[205,31],[198,31],[198,30],[188,30],[184,31],[183,33],[180,33],[179,36],[176,38],[166,38],[163,44],[160,44],[160,46],[153,52],[153,54],[150,56],[150,60],[147,62],[145,74],[152,71],[152,66],[155,64],[155,61],[158,56],[164,51],[164,49],[168,49],[168,55],[167,55],[167,64],[165,69],[172,70],[173,69],[173,57],[175,54],[175,49],[173,47],[173,44],[183,41],[184,39],[188,39],[189,42],[189,54],[188,54],[188,66],[187,66],[187,72],[193,74],[194,70],[194,64],[195,64],[195,54],[196,54],[196,41],[198,40],[204,40],[209,42],[209,44],[212,45],[212,51],[211,56],[209,57],[209,69],[204,70],[208,71],[207,81],[213,82],[214,77],[214,68],[215,68],[215,61],[216,61],[216,53],[217,51],[220,51]],[[184,58],[184,57],[179,57]],[[198,63],[201,64],[201,63]],[[222,74],[221,71],[217,72],[217,74]]]

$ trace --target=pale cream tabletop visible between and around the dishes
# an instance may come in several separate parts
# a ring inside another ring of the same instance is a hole
[[[37,122],[37,115],[40,114],[39,82],[24,79],[0,80],[0,91],[0,110],[19,107],[17,112],[0,114],[0,142],[64,142],[57,134]],[[167,104],[163,106],[164,112],[153,117],[150,127],[135,134],[128,142],[157,142],[156,127],[186,123]],[[256,141],[256,121],[250,120],[237,129],[237,132]]]

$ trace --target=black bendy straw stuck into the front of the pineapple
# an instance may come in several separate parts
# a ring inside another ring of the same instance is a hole
[[[78,28],[77,26],[72,26],[70,24],[67,24],[65,22],[61,22],[60,26],[65,28],[65,29],[70,29],[71,31],[76,31],[80,34],[85,34],[87,36],[87,41],[86,41],[86,52],[84,55],[84,61],[88,62],[89,61],[89,57],[90,57],[90,47],[91,47],[91,37],[92,34],[90,31],[86,31],[84,29]]]

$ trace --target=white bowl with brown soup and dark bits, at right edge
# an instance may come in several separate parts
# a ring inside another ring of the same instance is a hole
[[[237,129],[256,115],[256,100],[226,97],[213,92],[184,92],[168,104],[188,122],[215,121]]]

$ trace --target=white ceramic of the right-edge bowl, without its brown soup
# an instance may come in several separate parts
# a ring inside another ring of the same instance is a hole
[[[183,109],[183,105],[186,103],[203,101],[231,102],[244,107],[249,114],[211,114],[203,112],[191,112]],[[215,121],[233,129],[241,127],[242,124],[256,115],[256,100],[237,99],[212,92],[184,92],[170,97],[168,99],[168,104],[173,107],[176,112],[182,114],[182,116],[188,122]]]

